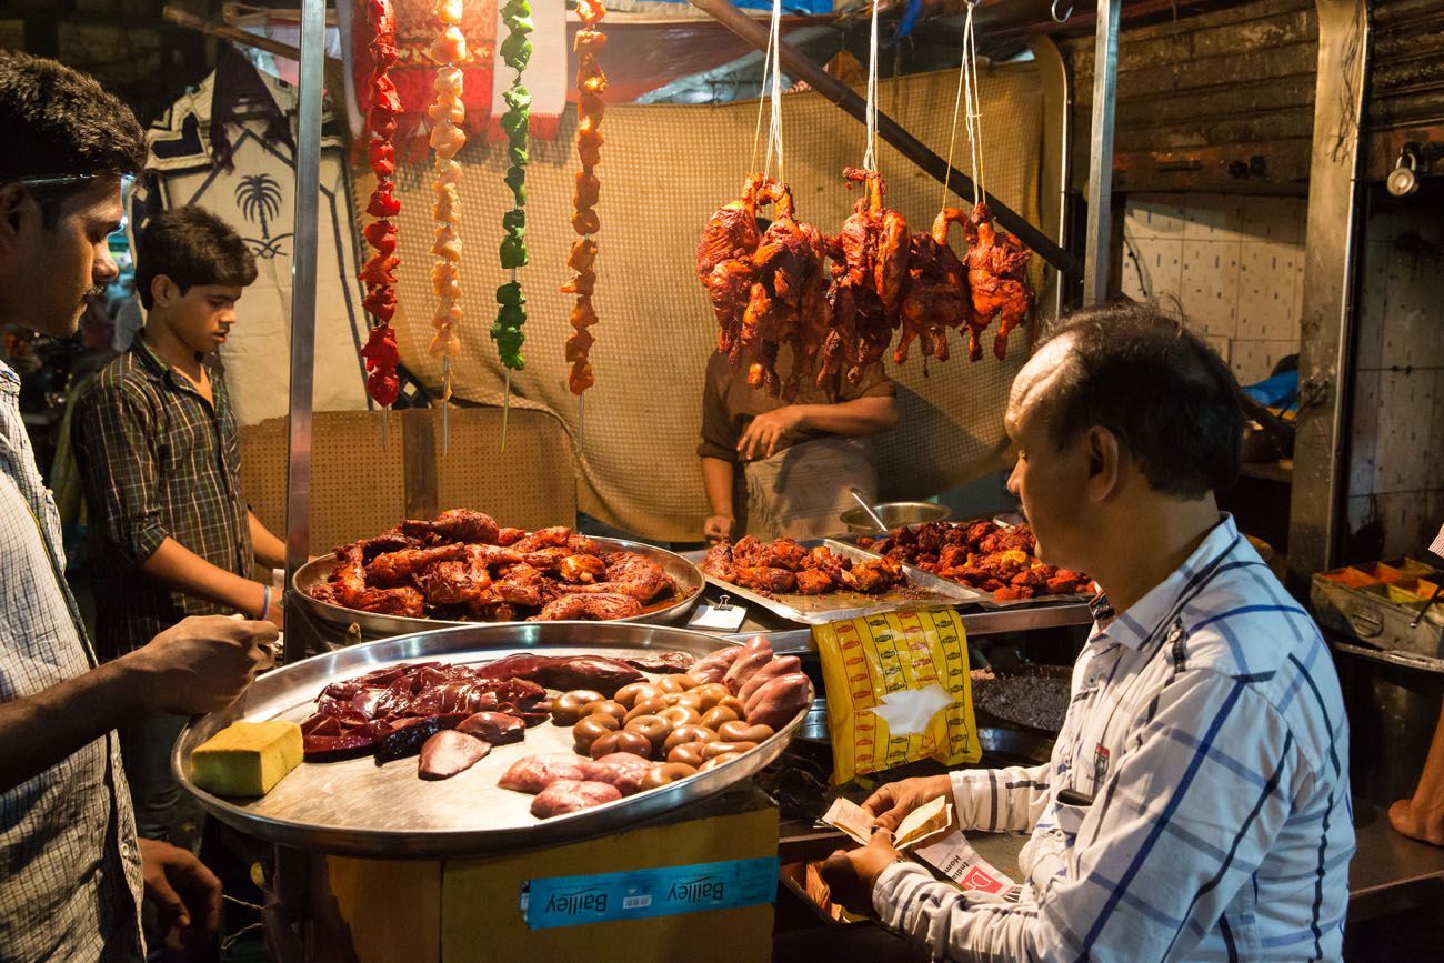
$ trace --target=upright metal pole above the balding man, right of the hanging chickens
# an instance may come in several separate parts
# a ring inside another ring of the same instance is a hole
[[[1113,240],[1113,108],[1118,94],[1118,14],[1122,0],[1097,0],[1093,42],[1093,134],[1087,172],[1087,248],[1083,303],[1108,300],[1109,244]]]

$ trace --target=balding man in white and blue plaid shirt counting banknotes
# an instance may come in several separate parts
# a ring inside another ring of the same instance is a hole
[[[1347,720],[1317,627],[1214,502],[1242,432],[1227,367],[1149,309],[1093,309],[1005,423],[1038,554],[1103,589],[1053,759],[884,785],[835,894],[956,960],[1339,959]],[[888,830],[943,794],[960,829],[1031,833],[1019,902],[898,862]]]

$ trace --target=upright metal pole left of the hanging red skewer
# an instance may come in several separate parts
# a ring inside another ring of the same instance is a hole
[[[296,124],[296,222],[290,263],[290,426],[286,466],[286,585],[310,552],[310,404],[316,347],[316,202],[321,195],[321,94],[325,0],[300,4],[300,117]],[[286,661],[305,658],[286,632]]]

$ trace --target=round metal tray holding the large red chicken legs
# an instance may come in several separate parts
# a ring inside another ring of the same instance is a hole
[[[630,618],[614,619],[617,622],[647,622],[653,625],[683,625],[687,616],[692,615],[692,609],[696,608],[697,601],[702,598],[702,586],[706,585],[706,579],[702,576],[702,569],[693,563],[683,559],[674,552],[667,552],[666,549],[658,549],[657,546],[650,546],[644,541],[627,541],[625,539],[598,539],[592,537],[592,541],[598,543],[609,552],[635,552],[637,554],[647,556],[663,570],[671,576],[671,580],[677,586],[677,601],[670,605],[643,612],[641,615],[632,615]],[[322,602],[319,599],[310,598],[306,589],[321,585],[331,575],[332,569],[336,566],[336,559],[332,554],[323,556],[321,559],[313,559],[306,565],[296,569],[296,576],[292,579],[292,588],[295,589],[293,598],[308,615],[345,631],[351,625],[361,629],[361,635],[365,638],[384,638],[387,635],[404,635],[410,632],[427,632],[430,629],[443,625],[523,625],[524,622],[455,622],[451,619],[439,618],[409,618],[406,615],[381,615],[378,612],[362,612],[361,609],[351,609],[342,605],[332,605],[331,602]]]

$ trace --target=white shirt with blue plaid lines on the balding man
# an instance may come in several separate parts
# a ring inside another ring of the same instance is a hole
[[[970,902],[897,863],[874,889],[881,918],[956,960],[1340,959],[1349,728],[1308,614],[1225,515],[1109,615],[1053,761],[953,774],[963,829],[1032,832],[1028,897]]]

